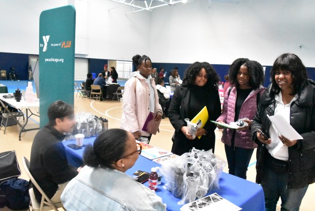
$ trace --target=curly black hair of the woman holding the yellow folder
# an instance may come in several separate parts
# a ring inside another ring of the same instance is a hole
[[[205,87],[211,89],[218,89],[219,76],[214,70],[214,68],[208,62],[195,62],[190,65],[185,71],[182,86],[192,87],[195,85],[196,76],[199,71],[204,68],[206,70],[208,81],[204,85]]]

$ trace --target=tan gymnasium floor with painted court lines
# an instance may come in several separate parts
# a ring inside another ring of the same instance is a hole
[[[2,84],[4,81],[1,81]],[[9,88],[9,87],[8,87]],[[15,90],[16,87],[10,87],[10,90]],[[76,93],[74,93],[76,95]],[[122,102],[120,101],[111,101],[111,100],[105,100],[105,101],[93,101],[89,100],[87,98],[79,98],[74,97],[75,99],[75,112],[89,112],[93,115],[106,117],[109,119],[109,128],[119,128],[120,126],[120,118],[122,114]],[[20,120],[23,121],[23,120]],[[32,119],[28,122],[26,128],[31,127],[38,127],[39,118],[32,117]],[[4,128],[0,131],[0,151],[9,151],[9,150],[16,150],[18,162],[20,163],[20,168],[22,171],[22,175],[20,178],[28,180],[28,177],[26,173],[24,172],[24,169],[22,167],[21,158],[22,156],[25,156],[27,159],[30,157],[30,148],[31,144],[33,142],[34,136],[38,132],[38,130],[33,131],[27,131],[26,133],[22,134],[21,141],[18,140],[18,133],[19,133],[20,127],[18,125],[13,125],[7,127],[6,134],[3,134]],[[166,150],[171,150],[172,141],[171,137],[173,135],[173,127],[169,122],[168,118],[162,119],[161,125],[160,125],[160,133],[158,133],[156,136],[153,135],[150,144],[164,148]],[[216,130],[216,145],[215,145],[215,154],[223,157],[224,160],[226,160],[225,151],[224,151],[224,145],[220,141],[220,138],[222,137],[222,131]],[[251,158],[248,171],[247,171],[247,180],[255,182],[255,176],[256,176],[256,150],[254,151],[253,157]],[[228,172],[228,168],[226,167],[224,169],[225,172]],[[302,211],[310,211],[314,210],[313,205],[313,194],[315,193],[315,185],[312,184],[309,186],[308,191],[302,201],[302,205],[300,210]],[[7,207],[1,209],[1,210],[10,210]],[[280,206],[278,203],[277,210],[280,210]]]

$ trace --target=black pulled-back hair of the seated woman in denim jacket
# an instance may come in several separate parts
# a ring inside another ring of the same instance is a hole
[[[109,167],[123,156],[127,149],[128,132],[123,129],[108,129],[99,134],[93,146],[87,145],[83,163],[92,168]]]

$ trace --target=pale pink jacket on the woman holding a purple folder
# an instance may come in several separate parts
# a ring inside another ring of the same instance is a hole
[[[150,77],[150,76],[149,76]],[[155,88],[154,78],[150,78],[151,85],[154,89],[155,105],[154,113],[160,111],[162,107],[159,104],[159,96]],[[141,136],[150,134],[142,131],[144,122],[150,113],[150,87],[140,74],[133,76],[125,83],[123,92],[122,117],[120,128],[134,133],[140,131]]]

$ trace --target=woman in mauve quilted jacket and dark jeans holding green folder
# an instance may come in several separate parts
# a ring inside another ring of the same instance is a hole
[[[222,142],[225,144],[229,174],[246,179],[246,171],[257,144],[251,141],[250,124],[253,120],[261,94],[265,91],[264,70],[261,64],[248,59],[237,59],[229,70],[231,87],[227,90],[222,114],[217,122],[236,122],[243,119],[248,126],[240,129],[224,128]],[[218,125],[219,129],[223,129]]]

